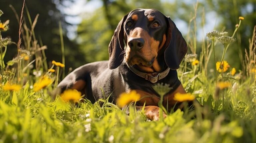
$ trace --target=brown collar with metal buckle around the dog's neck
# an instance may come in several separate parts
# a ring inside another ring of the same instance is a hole
[[[129,66],[128,66],[129,67]],[[151,83],[156,83],[157,81],[159,81],[160,79],[163,79],[165,78],[169,71],[170,71],[170,68],[168,67],[165,71],[161,72],[161,73],[158,73],[158,72],[154,72],[154,73],[151,73],[151,74],[148,74],[148,73],[144,73],[144,72],[141,72],[141,71],[138,71],[137,69],[135,69],[133,66],[132,67],[129,67],[130,70],[135,73],[136,75],[144,78],[145,80],[148,80],[150,81]]]

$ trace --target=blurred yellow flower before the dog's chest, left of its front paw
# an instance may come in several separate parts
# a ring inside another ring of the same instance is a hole
[[[131,102],[138,101],[139,99],[140,94],[138,94],[135,90],[132,90],[129,93],[120,94],[116,102],[119,107],[124,107],[125,105],[130,104]]]

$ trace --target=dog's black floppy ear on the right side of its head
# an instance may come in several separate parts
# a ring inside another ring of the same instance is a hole
[[[188,47],[180,31],[169,17],[166,17],[166,23],[167,38],[165,43],[166,49],[164,51],[164,60],[170,69],[176,70],[180,67],[180,62],[187,53]]]

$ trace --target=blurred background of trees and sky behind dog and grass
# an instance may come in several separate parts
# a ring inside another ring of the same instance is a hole
[[[20,16],[22,3],[23,0],[0,2],[4,12],[1,20],[10,20],[10,30],[2,34],[14,42],[18,41],[19,23],[10,5]],[[136,8],[155,8],[170,16],[186,40],[197,41],[197,53],[201,51],[207,32],[227,31],[232,36],[238,17],[243,16],[245,20],[235,36],[238,40],[230,45],[225,57],[232,67],[241,69],[243,57],[238,56],[239,47],[244,53],[249,46],[248,40],[256,25],[256,0],[198,0],[198,5],[196,3],[191,0],[26,0],[28,11],[24,12],[24,23],[29,25],[28,16],[33,20],[39,14],[35,36],[42,45],[47,45],[48,62],[62,61],[59,22],[62,23],[68,70],[85,63],[108,60],[108,44],[118,22]],[[196,23],[189,24],[192,19]],[[216,48],[220,60],[223,47],[219,44]],[[12,44],[8,46],[4,61],[16,55],[17,46]]]

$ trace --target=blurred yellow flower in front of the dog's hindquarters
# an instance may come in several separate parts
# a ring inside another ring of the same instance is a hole
[[[79,101],[79,99],[82,98],[81,96],[81,92],[77,91],[77,90],[73,90],[73,89],[68,89],[65,90],[61,95],[60,95],[61,99],[63,101]]]

